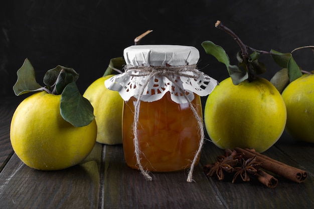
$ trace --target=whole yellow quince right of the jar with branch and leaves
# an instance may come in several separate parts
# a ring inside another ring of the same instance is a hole
[[[211,141],[222,149],[235,147],[254,148],[263,152],[270,148],[282,135],[286,123],[284,101],[266,79],[257,75],[266,71],[258,61],[261,54],[269,54],[293,75],[297,73],[292,56],[271,51],[255,50],[243,44],[230,29],[219,21],[216,27],[230,34],[239,44],[238,65],[230,65],[225,50],[211,41],[202,46],[207,54],[225,64],[229,78],[225,79],[208,96],[204,120]],[[249,54],[248,50],[252,53]]]

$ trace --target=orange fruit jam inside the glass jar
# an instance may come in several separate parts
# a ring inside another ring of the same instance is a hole
[[[192,104],[202,117],[200,96]],[[123,150],[128,166],[138,168],[133,144],[134,106],[131,97],[123,107]],[[137,125],[140,163],[148,171],[177,171],[190,168],[201,136],[189,103],[177,104],[170,92],[157,101],[140,102]],[[199,159],[197,160],[197,162]]]

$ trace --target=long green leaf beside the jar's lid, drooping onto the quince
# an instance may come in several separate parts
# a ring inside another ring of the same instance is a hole
[[[214,56],[219,62],[225,64],[234,85],[238,85],[248,79],[248,73],[245,70],[241,70],[235,65],[230,65],[230,59],[221,46],[211,41],[205,41],[202,43],[202,47],[207,54]]]

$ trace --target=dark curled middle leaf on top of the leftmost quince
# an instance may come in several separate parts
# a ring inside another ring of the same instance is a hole
[[[44,76],[44,83],[53,88],[53,94],[61,94],[63,89],[72,82],[75,82],[79,74],[73,68],[66,68],[58,65],[50,69]]]

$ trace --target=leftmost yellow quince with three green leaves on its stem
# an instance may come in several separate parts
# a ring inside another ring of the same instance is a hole
[[[96,143],[93,107],[78,91],[72,68],[57,66],[36,82],[28,59],[18,70],[16,95],[34,92],[15,110],[10,137],[14,151],[28,166],[59,170],[80,163]]]

